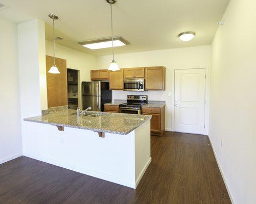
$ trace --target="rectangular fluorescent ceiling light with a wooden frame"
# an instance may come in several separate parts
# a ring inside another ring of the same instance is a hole
[[[96,40],[88,40],[84,42],[79,42],[78,44],[83,45],[84,47],[87,47],[89,49],[102,49],[102,48],[108,48],[112,47],[112,38],[101,38]],[[113,38],[113,44],[114,47],[124,46],[130,44],[127,40],[119,37]]]

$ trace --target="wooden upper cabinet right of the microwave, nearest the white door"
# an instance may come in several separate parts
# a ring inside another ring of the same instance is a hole
[[[146,90],[165,90],[166,68],[146,67],[145,68]]]

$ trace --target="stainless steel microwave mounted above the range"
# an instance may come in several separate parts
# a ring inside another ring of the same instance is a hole
[[[124,80],[124,91],[145,91],[145,79]]]

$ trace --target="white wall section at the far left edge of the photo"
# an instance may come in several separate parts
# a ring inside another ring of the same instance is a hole
[[[0,164],[22,155],[17,27],[0,19]]]

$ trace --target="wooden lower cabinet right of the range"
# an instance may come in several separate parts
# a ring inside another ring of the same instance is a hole
[[[165,132],[165,106],[161,108],[142,107],[143,115],[152,115],[150,120],[151,135],[160,135]]]

